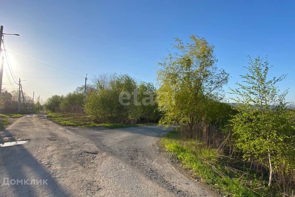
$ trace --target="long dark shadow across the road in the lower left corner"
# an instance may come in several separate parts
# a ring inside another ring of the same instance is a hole
[[[1,132],[1,135],[2,137],[13,136],[7,130]],[[14,137],[12,140],[16,141]],[[0,184],[1,182],[4,182],[4,178],[8,178],[9,180],[23,180],[23,184],[14,184],[13,181],[12,183],[14,185],[0,185],[1,196],[11,196],[12,193],[13,196],[22,197],[37,197],[41,194],[42,196],[49,195],[56,197],[70,196],[51,177],[50,173],[43,167],[43,165],[26,150],[24,145],[0,147],[0,172]],[[27,179],[29,179],[27,182],[28,184],[24,185],[24,180]],[[36,181],[40,179],[47,179],[47,182],[45,182],[47,185],[37,185]],[[31,180],[35,180],[35,182],[32,182],[30,185]],[[13,187],[13,189],[10,187]]]

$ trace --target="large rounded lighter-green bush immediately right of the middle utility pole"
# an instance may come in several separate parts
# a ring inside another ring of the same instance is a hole
[[[119,96],[122,92],[131,94],[136,87],[135,80],[128,74],[111,74],[107,78],[98,78],[96,89],[87,94],[85,111],[100,123],[132,122],[134,105],[122,105]],[[129,103],[133,103],[132,97]]]

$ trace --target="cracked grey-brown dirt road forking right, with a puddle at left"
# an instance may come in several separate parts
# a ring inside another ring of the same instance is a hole
[[[22,117],[0,132],[0,143],[29,140],[0,147],[0,196],[218,196],[161,153],[167,131],[155,125],[83,129],[43,117]]]

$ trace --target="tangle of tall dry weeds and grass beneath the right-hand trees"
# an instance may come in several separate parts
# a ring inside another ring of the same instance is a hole
[[[295,196],[295,171],[286,170],[282,163],[281,169],[274,172],[272,187],[268,188],[268,170],[254,158],[250,161],[243,159],[243,153],[237,151],[231,140],[230,130],[221,132],[216,124],[200,122],[193,129],[193,138],[190,135],[189,128],[180,127],[174,139],[180,139],[185,147],[195,150],[191,152],[193,154],[198,152],[198,148],[203,153],[205,149],[210,150],[212,155],[199,152],[197,155],[224,180],[222,184],[227,185],[227,178],[235,177],[234,181],[258,196]]]

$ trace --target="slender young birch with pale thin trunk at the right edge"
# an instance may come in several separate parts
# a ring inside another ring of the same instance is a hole
[[[250,58],[250,57],[249,57]],[[243,83],[231,89],[239,103],[238,114],[232,119],[234,143],[244,153],[244,159],[254,159],[269,170],[271,187],[274,173],[282,175],[295,167],[295,124],[285,113],[285,96],[276,87],[286,75],[268,79],[269,63],[250,58]]]

